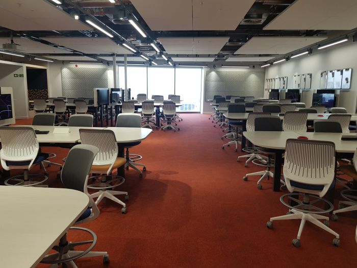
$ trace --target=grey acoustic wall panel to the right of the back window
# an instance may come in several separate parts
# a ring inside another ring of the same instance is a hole
[[[261,98],[264,94],[264,72],[207,71],[205,100],[214,95],[241,95]]]

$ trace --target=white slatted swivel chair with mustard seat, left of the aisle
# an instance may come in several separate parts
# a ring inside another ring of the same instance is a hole
[[[123,208],[121,209],[121,212],[125,214],[125,203],[115,196],[124,194],[125,200],[129,200],[129,196],[127,192],[113,190],[113,188],[123,184],[125,180],[121,176],[111,174],[113,170],[126,163],[125,158],[118,157],[118,145],[116,143],[114,132],[106,129],[80,129],[80,137],[82,144],[93,145],[99,149],[99,152],[94,158],[90,173],[101,175],[93,176],[90,179],[100,181],[88,185],[89,189],[98,190],[91,194],[92,198],[97,197],[95,204],[98,205],[103,198],[109,198],[122,205]],[[68,158],[66,161],[68,161]]]

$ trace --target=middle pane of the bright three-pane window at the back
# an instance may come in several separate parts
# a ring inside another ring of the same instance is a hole
[[[175,69],[173,67],[148,67],[147,90],[151,95],[163,95],[167,100],[168,94],[174,94]]]

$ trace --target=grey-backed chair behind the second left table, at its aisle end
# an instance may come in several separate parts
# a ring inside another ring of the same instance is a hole
[[[140,128],[141,127],[141,116],[140,114],[119,114],[117,117],[116,121],[116,127],[117,128]],[[146,170],[146,166],[141,163],[137,163],[137,161],[142,159],[141,155],[137,154],[130,154],[129,149],[139,145],[141,141],[134,141],[134,142],[125,142],[121,143],[120,145],[126,149],[125,151],[125,158],[126,158],[126,163],[125,163],[125,168],[129,169],[129,167],[134,168],[139,172],[139,177],[142,178],[142,172],[138,168],[138,166],[142,166],[143,170]]]

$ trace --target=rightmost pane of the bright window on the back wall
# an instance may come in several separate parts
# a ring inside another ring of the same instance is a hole
[[[175,94],[180,95],[179,111],[199,112],[201,108],[202,68],[176,68]]]

